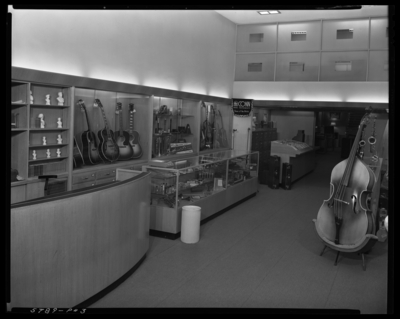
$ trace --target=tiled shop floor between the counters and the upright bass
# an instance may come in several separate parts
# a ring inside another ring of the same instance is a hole
[[[136,272],[90,308],[307,308],[386,313],[387,242],[361,257],[327,249],[313,218],[339,153],[318,155],[291,190],[257,196],[201,226],[200,241],[150,237]]]

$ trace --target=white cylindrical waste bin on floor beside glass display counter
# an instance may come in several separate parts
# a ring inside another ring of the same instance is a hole
[[[181,240],[186,244],[195,244],[200,238],[201,207],[183,206]]]

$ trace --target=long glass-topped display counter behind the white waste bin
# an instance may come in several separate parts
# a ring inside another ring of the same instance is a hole
[[[180,236],[183,206],[200,206],[206,220],[258,189],[258,152],[153,159],[142,170],[152,174],[150,232],[170,239]]]

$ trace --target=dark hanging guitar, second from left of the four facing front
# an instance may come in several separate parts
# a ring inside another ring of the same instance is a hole
[[[108,127],[107,118],[100,100],[96,99],[94,105],[100,108],[104,120],[104,128],[97,132],[100,141],[99,155],[103,161],[113,163],[119,158],[119,147],[115,142],[113,131]]]

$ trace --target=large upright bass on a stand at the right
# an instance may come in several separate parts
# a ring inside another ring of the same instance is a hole
[[[361,120],[349,157],[333,168],[330,197],[323,201],[315,222],[322,240],[352,250],[375,229],[369,207],[375,175],[358,154],[359,146],[365,144],[360,137],[369,118],[366,114]]]

